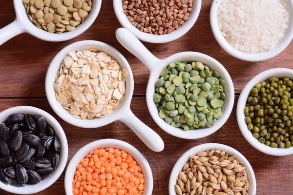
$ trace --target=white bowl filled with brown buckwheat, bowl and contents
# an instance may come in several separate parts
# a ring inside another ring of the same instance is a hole
[[[201,0],[113,0],[121,25],[138,39],[166,43],[185,35],[196,22]]]

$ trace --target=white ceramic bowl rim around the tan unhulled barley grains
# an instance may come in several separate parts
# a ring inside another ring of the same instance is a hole
[[[235,155],[236,159],[240,162],[240,164],[246,167],[245,171],[247,172],[248,180],[250,182],[248,194],[249,195],[256,194],[256,180],[255,180],[253,169],[249,161],[240,152],[238,152],[234,148],[231,148],[230,146],[218,144],[218,143],[206,143],[206,144],[201,144],[189,149],[177,160],[176,164],[174,165],[172,169],[170,179],[169,179],[169,195],[176,195],[175,187],[174,187],[174,185],[177,182],[176,176],[178,176],[179,172],[182,171],[185,163],[189,161],[189,156],[196,155],[200,152],[207,151],[207,150],[208,151],[221,150],[226,153],[229,153],[229,155]]]

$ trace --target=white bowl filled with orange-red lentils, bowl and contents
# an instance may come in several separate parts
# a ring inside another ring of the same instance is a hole
[[[66,195],[151,195],[153,178],[146,158],[117,139],[93,141],[70,160]]]

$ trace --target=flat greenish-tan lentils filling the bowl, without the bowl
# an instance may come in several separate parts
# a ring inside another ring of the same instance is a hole
[[[91,0],[22,0],[29,20],[49,33],[72,31],[87,18]]]

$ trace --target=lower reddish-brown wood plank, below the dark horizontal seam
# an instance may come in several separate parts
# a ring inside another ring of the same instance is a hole
[[[236,102],[232,114],[225,125],[216,133],[199,140],[186,140],[168,135],[160,129],[146,109],[145,97],[135,97],[131,102],[133,113],[146,125],[156,131],[165,142],[165,150],[155,153],[148,149],[135,134],[122,122],[114,122],[97,129],[82,129],[64,122],[52,111],[46,99],[0,99],[0,111],[19,105],[41,108],[55,117],[62,125],[69,146],[68,162],[74,154],[89,142],[114,138],[128,142],[136,147],[148,160],[153,173],[154,188],[152,195],[167,195],[168,180],[177,159],[188,149],[203,143],[222,143],[243,154],[251,163],[257,181],[257,195],[292,195],[293,166],[292,156],[269,156],[254,149],[242,136],[236,121]],[[232,137],[232,138],[231,138]],[[48,189],[36,195],[64,195],[64,173]],[[0,195],[9,193],[0,190]]]

